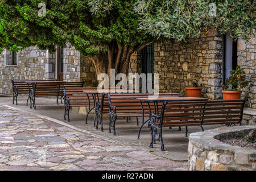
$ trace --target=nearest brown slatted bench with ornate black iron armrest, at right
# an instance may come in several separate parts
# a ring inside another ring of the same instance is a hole
[[[240,124],[246,100],[214,100],[167,102],[164,101],[159,114],[151,113],[149,127],[151,131],[150,147],[155,140],[162,143],[164,151],[162,127]],[[202,127],[203,129],[203,127]],[[157,138],[156,138],[157,136]]]

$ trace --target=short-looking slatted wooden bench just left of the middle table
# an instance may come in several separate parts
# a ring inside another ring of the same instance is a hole
[[[68,116],[69,119],[69,110],[71,107],[89,107],[89,111],[86,114],[85,123],[87,124],[88,114],[92,109],[95,107],[94,98],[91,94],[84,93],[84,90],[97,90],[96,87],[66,87],[64,85],[64,106],[65,106],[65,113],[64,119]]]

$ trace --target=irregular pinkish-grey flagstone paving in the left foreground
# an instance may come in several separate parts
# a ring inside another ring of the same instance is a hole
[[[186,170],[147,151],[0,105],[0,170]]]

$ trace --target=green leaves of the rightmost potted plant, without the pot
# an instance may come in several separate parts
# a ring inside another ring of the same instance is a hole
[[[245,71],[240,68],[240,66],[237,66],[236,70],[233,69],[230,75],[231,76],[225,80],[226,84],[224,85],[224,90],[237,91],[246,88],[248,81],[246,81]],[[232,86],[233,89],[228,89],[230,86]]]

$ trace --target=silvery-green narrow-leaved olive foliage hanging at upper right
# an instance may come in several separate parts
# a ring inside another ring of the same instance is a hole
[[[210,3],[216,5],[216,16],[209,14],[213,12]],[[186,40],[215,27],[221,34],[231,32],[234,39],[250,39],[255,5],[249,0],[137,0],[134,9],[141,16],[139,30],[158,38]]]

